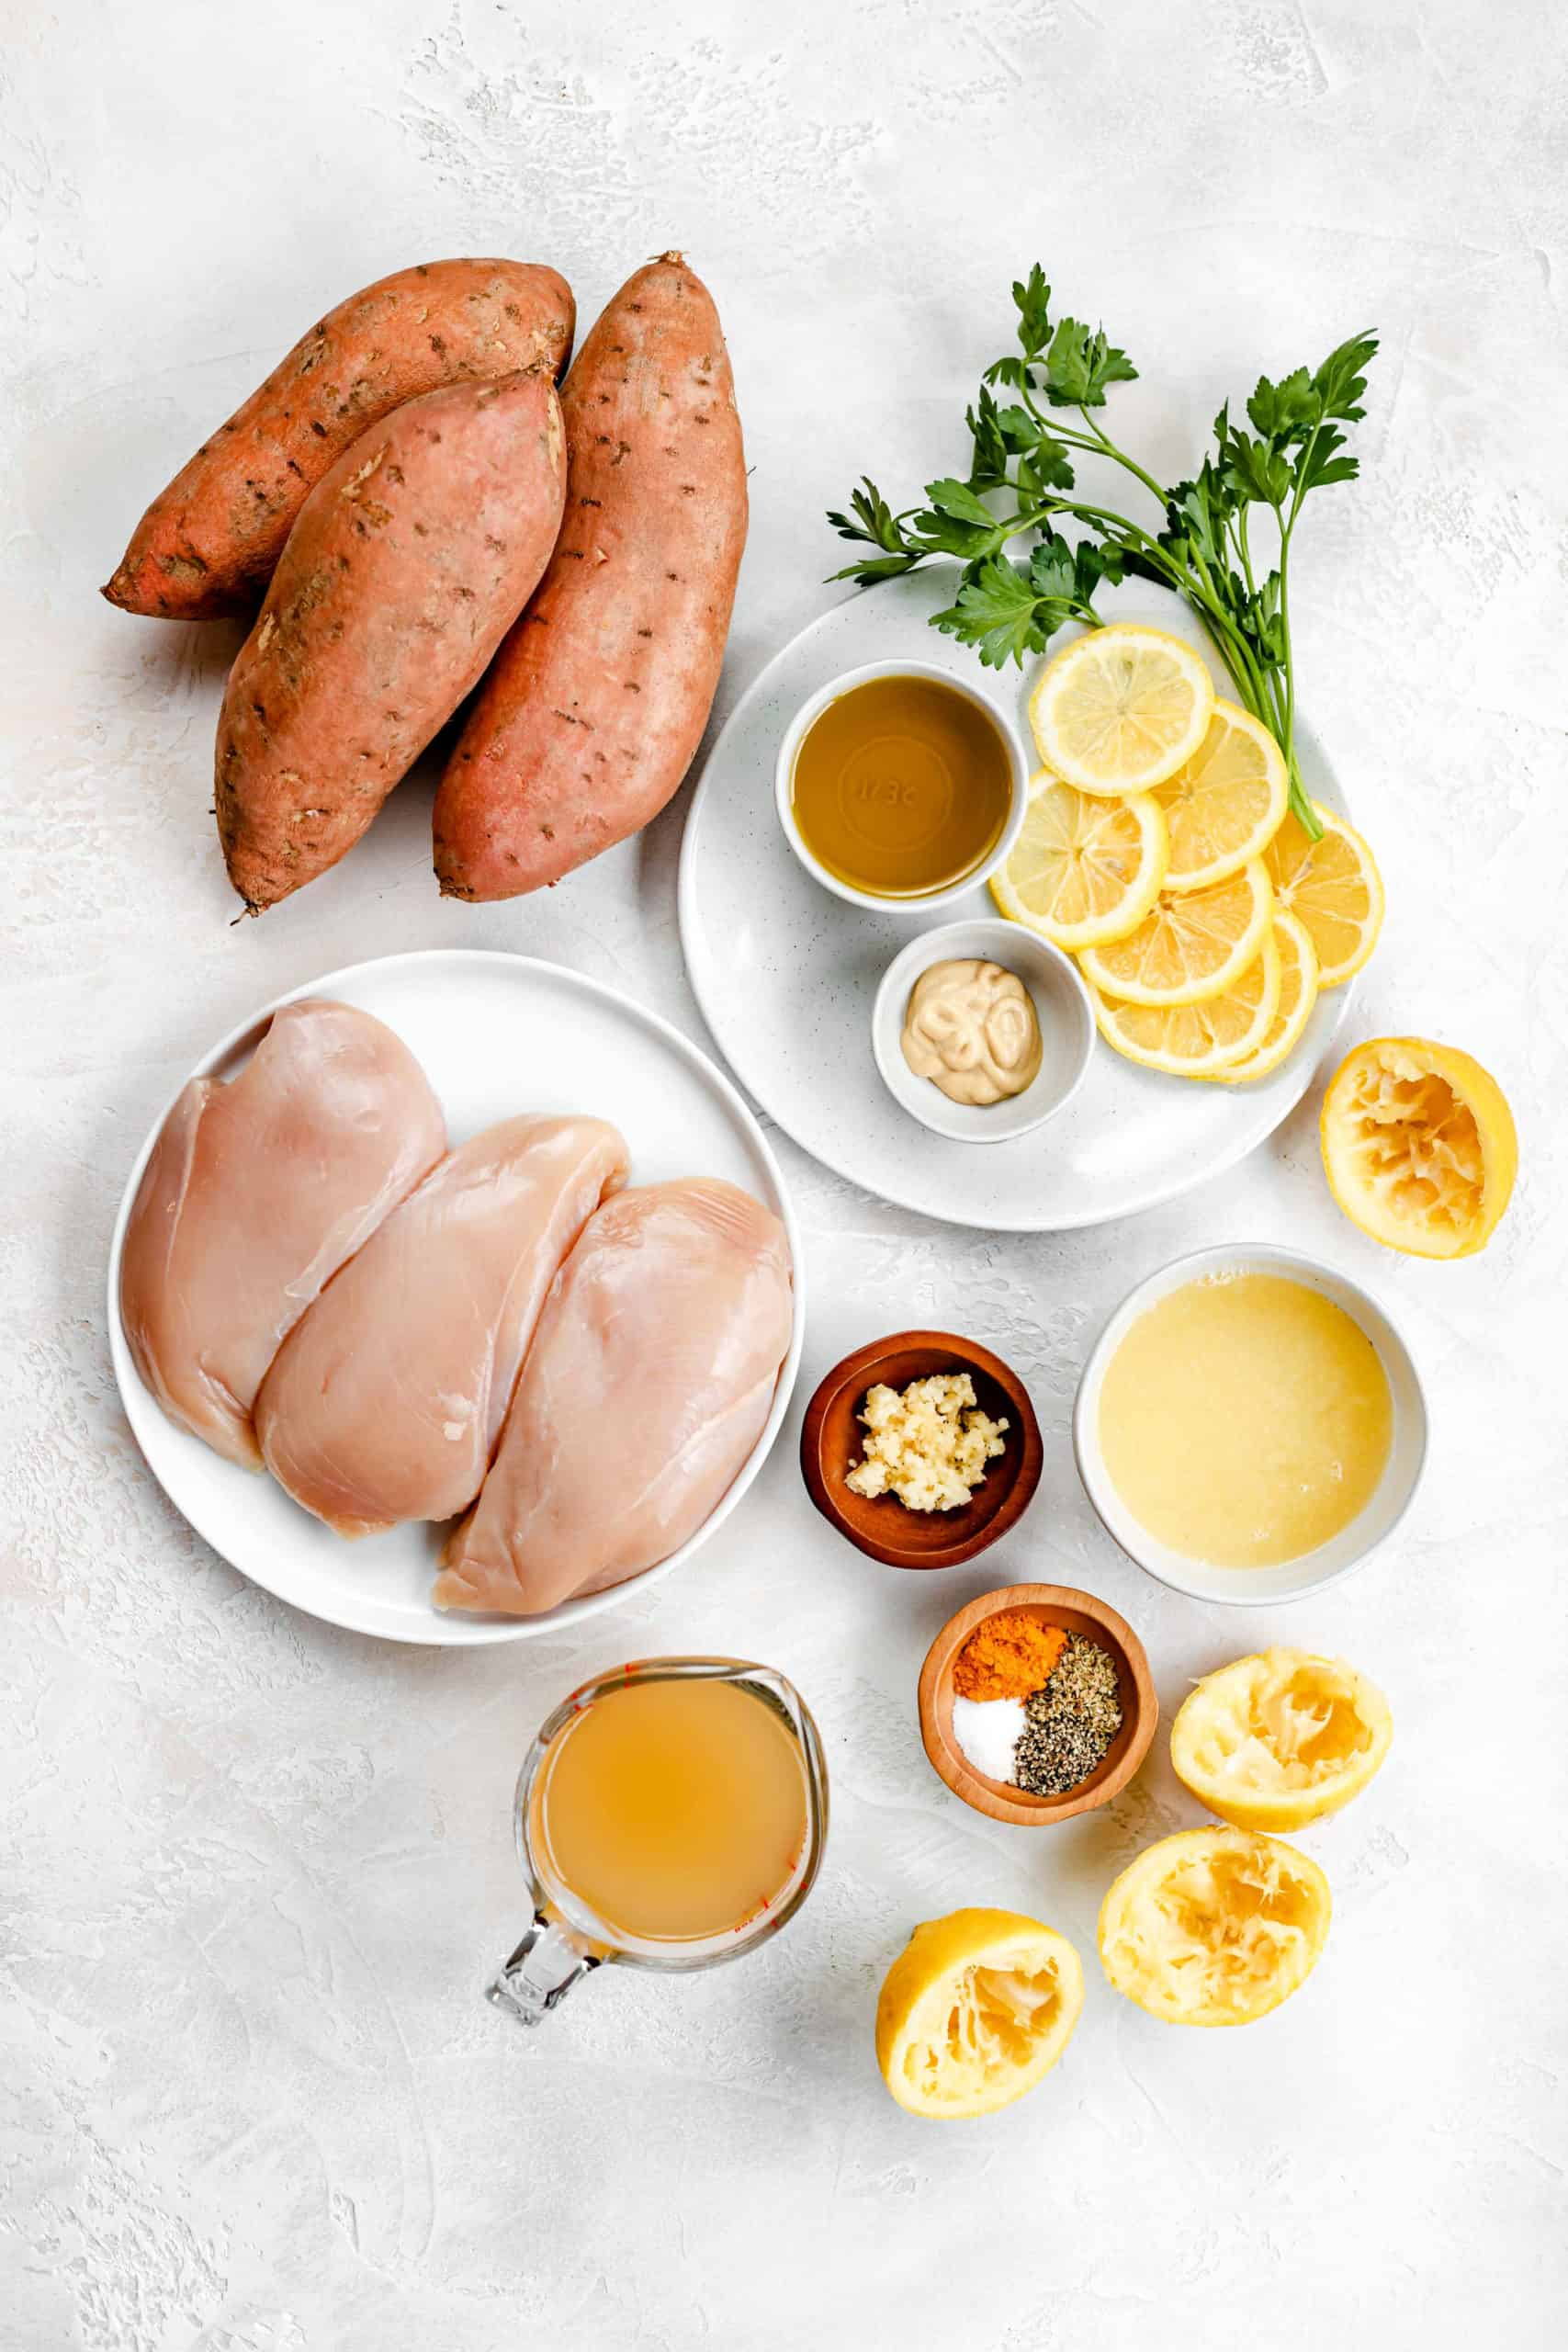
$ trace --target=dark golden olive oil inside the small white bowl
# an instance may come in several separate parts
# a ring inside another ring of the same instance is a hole
[[[936,677],[870,677],[811,722],[790,804],[827,873],[879,898],[924,898],[978,873],[1013,797],[1006,741]]]

